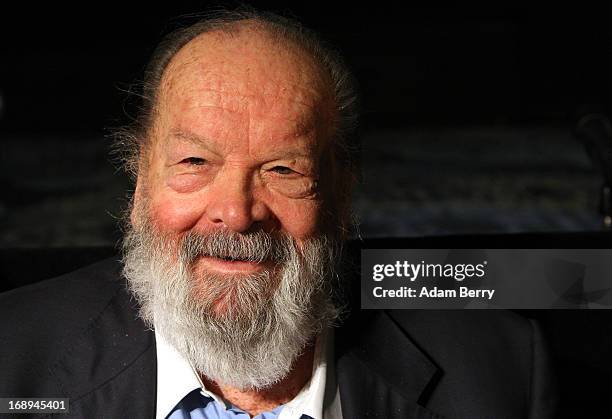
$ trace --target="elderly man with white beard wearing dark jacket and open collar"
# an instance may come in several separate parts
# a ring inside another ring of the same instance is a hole
[[[205,18],[160,44],[144,98],[119,135],[123,260],[2,297],[0,397],[67,397],[70,417],[552,415],[528,321],[339,297],[356,106],[310,31]]]

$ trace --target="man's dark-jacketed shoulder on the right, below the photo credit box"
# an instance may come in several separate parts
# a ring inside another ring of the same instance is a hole
[[[542,334],[513,312],[363,311],[339,332],[344,381],[387,386],[393,391],[386,394],[401,395],[405,409],[418,401],[449,417],[552,417],[554,386]]]

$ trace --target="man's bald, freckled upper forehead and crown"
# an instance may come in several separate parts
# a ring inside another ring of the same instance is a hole
[[[333,106],[332,80],[320,63],[296,43],[252,20],[235,22],[232,30],[216,29],[189,41],[168,63],[158,93],[163,94],[180,79],[245,95],[280,93],[296,102],[325,100]]]

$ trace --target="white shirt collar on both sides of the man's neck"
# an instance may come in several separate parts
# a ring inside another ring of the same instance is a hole
[[[299,418],[302,414],[313,419],[323,419],[323,400],[328,375],[333,374],[329,362],[331,355],[330,340],[332,330],[322,333],[316,341],[313,359],[312,376],[302,390],[288,403],[279,415],[279,419]],[[201,389],[206,396],[225,405],[216,394],[204,388],[198,374],[190,363],[166,342],[163,336],[155,330],[157,351],[157,419],[164,419],[183,397],[195,389]],[[331,384],[331,383],[328,383]]]

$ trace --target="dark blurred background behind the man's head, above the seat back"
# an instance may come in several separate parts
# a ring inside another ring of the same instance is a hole
[[[0,247],[115,243],[129,184],[107,129],[176,17],[208,4],[0,6]],[[610,102],[605,9],[252,4],[321,32],[360,80],[363,236],[599,229],[572,128]]]

